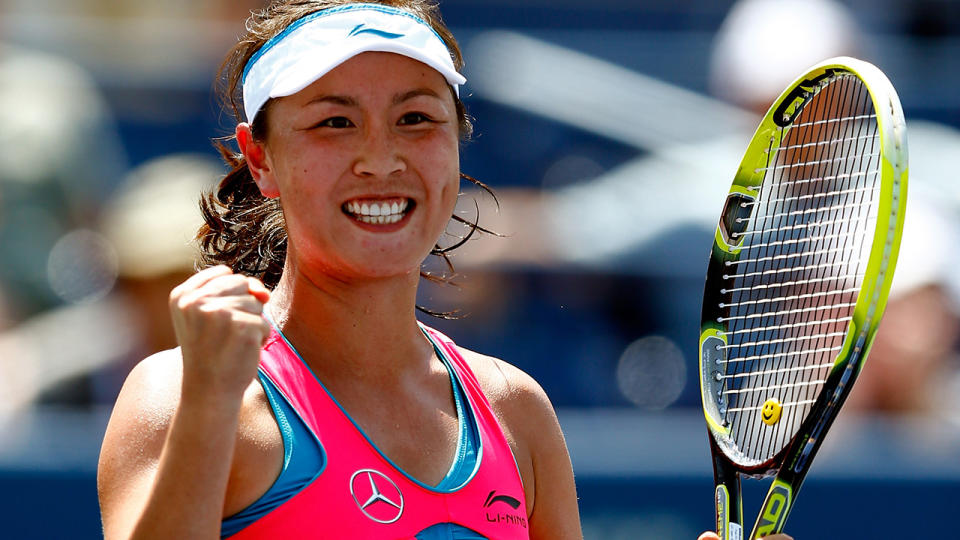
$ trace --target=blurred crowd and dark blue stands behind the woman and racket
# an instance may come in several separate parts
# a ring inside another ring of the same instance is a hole
[[[197,194],[225,172],[210,139],[233,129],[213,73],[261,6],[0,0],[4,538],[100,536],[103,431],[132,365],[175,345],[166,297],[193,267]],[[423,320],[540,381],[587,538],[712,526],[696,347],[720,201],[794,76],[840,54],[886,72],[909,128],[901,262],[788,532],[942,535],[931,518],[960,489],[960,2],[441,7],[475,117],[462,169],[498,200],[465,186],[459,211],[504,237],[455,252],[460,288],[424,284],[422,305],[462,318]]]

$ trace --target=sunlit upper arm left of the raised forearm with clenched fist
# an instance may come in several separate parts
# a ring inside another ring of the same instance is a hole
[[[176,350],[138,364],[127,377],[100,449],[97,492],[106,538],[126,537],[145,506],[180,395]]]

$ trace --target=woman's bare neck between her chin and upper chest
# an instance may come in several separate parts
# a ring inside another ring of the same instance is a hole
[[[429,367],[433,350],[416,319],[418,273],[344,281],[287,263],[267,309],[315,373],[375,382]]]

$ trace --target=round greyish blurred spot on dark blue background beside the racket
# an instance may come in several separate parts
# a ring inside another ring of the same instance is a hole
[[[680,397],[687,367],[680,348],[663,336],[631,343],[617,364],[617,386],[634,405],[664,409]]]

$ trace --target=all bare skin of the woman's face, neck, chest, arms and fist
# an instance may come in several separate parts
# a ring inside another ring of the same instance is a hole
[[[261,192],[283,207],[283,275],[270,293],[216,267],[171,293],[180,348],[131,372],[104,438],[107,540],[217,538],[222,518],[276,479],[282,439],[255,380],[269,333],[261,310],[387,456],[428,484],[445,475],[455,405],[415,301],[420,263],[456,202],[457,129],[442,76],[390,53],[360,54],[275,100],[264,141],[237,127]],[[409,209],[390,225],[344,211],[380,201]],[[461,353],[517,460],[531,538],[582,538],[570,459],[543,390],[507,363]]]

